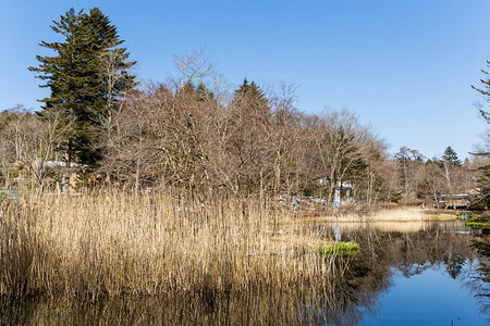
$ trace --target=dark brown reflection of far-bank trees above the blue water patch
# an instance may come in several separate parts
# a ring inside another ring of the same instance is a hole
[[[379,231],[373,225],[365,225],[348,234],[360,242],[363,250],[353,265],[368,266],[370,275],[400,271],[408,278],[429,268],[444,269],[470,291],[480,313],[489,314],[490,239],[487,236],[464,228],[460,222],[426,222],[419,231],[400,231],[396,224],[391,231],[387,226],[383,228]]]

